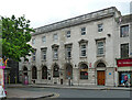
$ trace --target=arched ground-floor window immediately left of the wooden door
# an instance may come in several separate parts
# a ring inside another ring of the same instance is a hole
[[[88,66],[86,64],[80,65],[80,79],[88,79]]]

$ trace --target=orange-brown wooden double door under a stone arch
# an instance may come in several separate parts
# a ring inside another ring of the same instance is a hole
[[[105,81],[106,81],[105,70],[97,71],[97,78],[98,78],[98,85],[105,86]]]

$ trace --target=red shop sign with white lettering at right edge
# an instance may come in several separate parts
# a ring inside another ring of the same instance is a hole
[[[118,67],[132,67],[132,59],[117,59]]]

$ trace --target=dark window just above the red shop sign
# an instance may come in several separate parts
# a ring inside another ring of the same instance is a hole
[[[121,44],[121,58],[129,57],[129,43]]]

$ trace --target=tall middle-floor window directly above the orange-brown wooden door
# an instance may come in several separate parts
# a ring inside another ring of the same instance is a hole
[[[105,43],[103,42],[97,42],[97,55],[98,56],[105,55]]]

